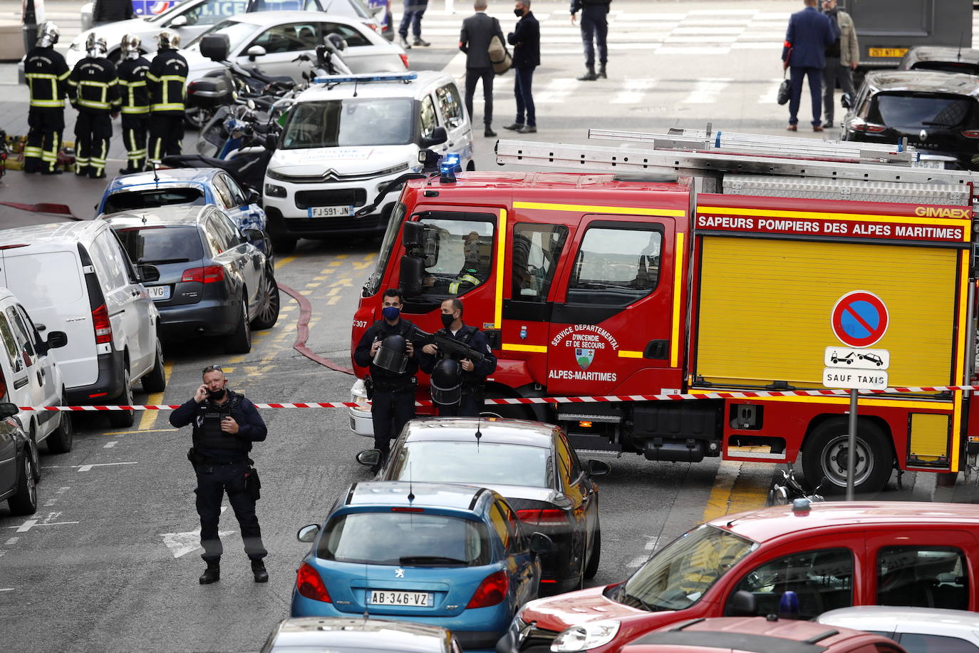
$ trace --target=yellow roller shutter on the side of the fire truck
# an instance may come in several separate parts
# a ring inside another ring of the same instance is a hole
[[[887,305],[891,386],[953,383],[957,251],[704,236],[695,374],[715,385],[821,388],[839,345],[833,304],[868,291]]]

